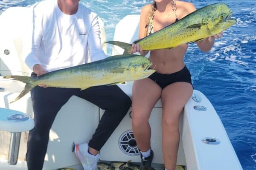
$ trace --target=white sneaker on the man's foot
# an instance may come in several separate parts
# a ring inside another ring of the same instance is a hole
[[[96,156],[88,153],[88,143],[76,144],[75,153],[84,170],[97,170],[99,153]]]

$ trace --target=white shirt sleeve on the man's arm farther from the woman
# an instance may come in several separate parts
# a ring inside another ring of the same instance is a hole
[[[28,38],[23,38],[23,59],[26,65],[33,71],[33,67],[36,64],[41,64],[38,60],[39,46],[43,37],[42,20],[43,14],[41,10],[37,8],[37,5],[30,7],[30,12],[32,13],[31,26],[27,30],[26,36]]]

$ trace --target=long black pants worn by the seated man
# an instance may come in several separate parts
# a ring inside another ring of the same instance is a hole
[[[117,86],[95,86],[80,91],[75,88],[41,88],[31,91],[35,127],[30,130],[26,161],[28,170],[41,170],[47,152],[49,130],[61,107],[76,95],[105,110],[89,146],[100,150],[131,106],[131,99]]]

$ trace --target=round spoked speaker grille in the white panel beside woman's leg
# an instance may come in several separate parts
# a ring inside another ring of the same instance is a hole
[[[119,148],[128,156],[138,156],[140,155],[140,150],[134,139],[134,134],[132,130],[127,130],[119,138]]]

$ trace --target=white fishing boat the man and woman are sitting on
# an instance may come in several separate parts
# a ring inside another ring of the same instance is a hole
[[[3,79],[6,75],[30,76],[31,70],[22,59],[26,30],[31,26],[28,7],[11,7],[0,15],[0,170],[26,170],[26,143],[28,131],[34,127],[30,94],[14,103],[24,84]],[[138,37],[139,15],[128,15],[116,25],[114,41],[131,43]],[[105,42],[105,30],[102,42]],[[103,43],[106,53],[107,48]],[[113,46],[112,54],[122,54]],[[119,84],[132,97],[133,82]],[[82,170],[72,152],[72,144],[88,142],[104,113],[96,105],[72,96],[61,108],[49,134],[49,144],[44,160],[44,170],[64,167]],[[140,162],[140,153],[131,127],[132,112],[125,118],[100,150],[101,161]],[[154,150],[152,166],[163,169],[161,148],[161,99],[154,106],[149,122],[151,125],[151,148]],[[224,126],[207,97],[194,90],[186,103],[179,121],[180,144],[177,165],[184,170],[242,170]]]

